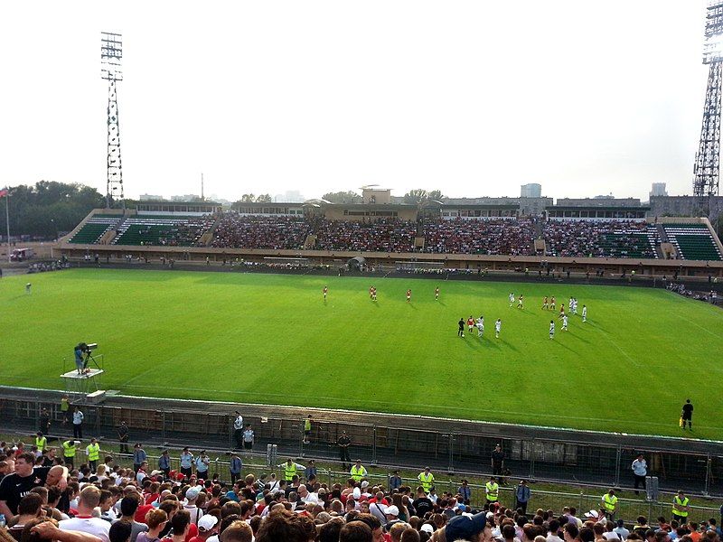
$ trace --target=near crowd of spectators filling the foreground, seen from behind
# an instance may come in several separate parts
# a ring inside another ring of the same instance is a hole
[[[43,438],[39,433],[29,451],[0,444],[0,542],[720,542],[721,537],[716,519],[690,520],[682,511],[689,502],[684,496],[677,505],[684,518],[669,523],[661,517],[648,525],[641,516],[626,525],[615,519],[617,498],[606,495],[599,510],[584,514],[571,507],[528,513],[531,491],[525,481],[515,491],[515,508],[505,508],[491,477],[484,505],[475,508],[467,481],[456,491],[437,493],[428,467],[416,487],[404,485],[399,472],[383,485],[368,481],[359,461],[345,484],[327,484],[317,479],[313,461],[305,467],[291,458],[279,465],[279,479],[239,475],[242,463],[234,452],[230,466],[237,475],[227,482],[211,474],[205,453],[194,457],[187,448],[179,471],[171,469],[167,452],[152,470],[140,444],[134,447],[133,469],[116,464],[112,455],[101,463],[99,447],[90,445],[89,462],[75,468],[80,443],[63,443],[63,455],[69,445],[73,453],[63,461]]]

